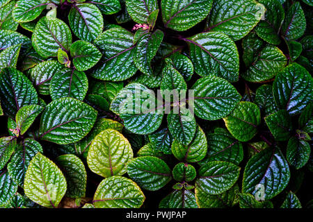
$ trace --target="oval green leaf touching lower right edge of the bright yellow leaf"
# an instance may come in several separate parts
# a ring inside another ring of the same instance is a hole
[[[129,177],[143,189],[156,191],[172,180],[168,164],[157,157],[136,157],[127,164]]]

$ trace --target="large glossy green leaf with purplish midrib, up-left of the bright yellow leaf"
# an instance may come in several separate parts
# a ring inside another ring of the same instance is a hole
[[[97,111],[86,103],[65,97],[49,103],[40,120],[40,139],[71,144],[83,139],[97,118]]]

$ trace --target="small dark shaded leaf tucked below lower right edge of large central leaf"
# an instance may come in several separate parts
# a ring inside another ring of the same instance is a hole
[[[173,137],[168,128],[162,128],[161,130],[148,135],[148,137],[152,146],[154,146],[153,150],[161,151],[166,154],[172,154],[170,148],[172,146]]]

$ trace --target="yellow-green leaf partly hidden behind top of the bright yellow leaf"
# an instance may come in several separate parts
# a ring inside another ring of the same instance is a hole
[[[93,126],[93,129],[90,130],[90,133],[83,139],[81,139],[79,142],[75,144],[75,149],[80,155],[83,155],[83,157],[87,157],[88,151],[90,148],[90,144],[99,133],[101,133],[103,130],[107,129],[113,129],[117,130],[118,132],[122,133],[122,128],[124,126],[122,123],[119,123],[118,121],[114,121],[112,119],[97,119],[95,122],[95,125]]]

